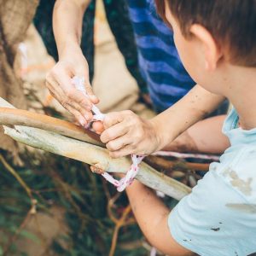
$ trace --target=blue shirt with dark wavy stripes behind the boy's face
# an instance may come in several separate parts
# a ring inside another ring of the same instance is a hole
[[[126,0],[143,79],[154,108],[163,111],[195,85],[183,67],[170,28],[156,14],[154,0]]]

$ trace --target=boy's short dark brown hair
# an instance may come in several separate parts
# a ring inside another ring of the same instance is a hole
[[[165,0],[155,0],[165,20]],[[183,36],[192,24],[205,26],[230,50],[230,62],[256,67],[256,0],[166,0]]]

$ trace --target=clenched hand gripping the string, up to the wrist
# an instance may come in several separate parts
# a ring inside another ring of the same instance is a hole
[[[96,125],[100,127],[99,123]],[[106,143],[114,158],[151,154],[160,149],[160,137],[153,120],[142,119],[130,110],[108,113],[103,126],[102,143]]]

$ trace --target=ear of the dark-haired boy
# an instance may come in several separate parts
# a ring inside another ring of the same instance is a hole
[[[206,61],[206,69],[208,71],[214,70],[223,53],[214,38],[212,38],[212,34],[208,32],[204,26],[199,24],[193,24],[190,27],[190,32],[202,44],[203,55]]]

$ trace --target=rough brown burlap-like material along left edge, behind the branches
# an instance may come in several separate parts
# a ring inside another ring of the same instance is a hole
[[[14,61],[18,44],[25,38],[38,0],[0,0],[0,96],[26,109],[22,82],[15,75]],[[0,128],[0,148],[17,156],[17,145],[3,135]]]

